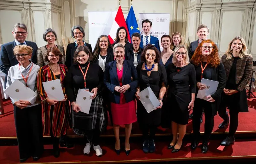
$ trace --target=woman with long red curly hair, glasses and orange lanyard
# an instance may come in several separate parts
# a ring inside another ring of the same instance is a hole
[[[208,100],[195,98],[193,111],[193,136],[191,149],[196,149],[200,137],[200,118],[204,109],[204,138],[202,145],[202,153],[208,151],[208,140],[212,133],[214,125],[214,116],[220,105],[220,96],[226,85],[226,73],[223,64],[220,62],[218,48],[212,40],[204,40],[196,48],[192,56],[191,63],[196,69],[196,95],[198,90],[205,89],[206,85],[201,84],[202,78],[218,81],[219,85],[216,92],[208,95]]]

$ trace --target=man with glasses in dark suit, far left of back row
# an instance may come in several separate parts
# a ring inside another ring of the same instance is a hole
[[[25,41],[28,35],[27,26],[23,23],[16,23],[13,26],[12,35],[14,36],[15,40],[13,42],[3,44],[0,51],[0,69],[6,74],[4,87],[6,85],[9,68],[19,63],[13,54],[13,48],[16,45],[27,45],[32,47],[33,52],[32,52],[31,60],[35,64],[37,62],[36,51],[38,47],[36,43]]]

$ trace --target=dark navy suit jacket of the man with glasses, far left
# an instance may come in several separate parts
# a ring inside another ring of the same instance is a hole
[[[26,41],[27,45],[33,48],[32,52],[32,57],[31,60],[33,63],[37,63],[37,55],[36,51],[38,49],[36,43]],[[2,45],[1,51],[0,51],[0,69],[5,73],[5,83],[4,87],[6,85],[7,81],[7,74],[11,66],[15,66],[18,64],[18,60],[15,58],[14,53],[13,53],[13,48],[16,46],[15,41],[5,43]]]

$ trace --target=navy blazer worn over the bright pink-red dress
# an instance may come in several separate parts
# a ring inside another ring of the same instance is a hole
[[[104,72],[104,84],[109,92],[109,100],[112,103],[120,103],[120,93],[115,91],[116,86],[120,86],[116,72],[116,60],[108,63]],[[124,60],[122,84],[129,84],[130,88],[124,93],[125,102],[135,99],[136,87],[138,86],[138,75],[133,63]]]

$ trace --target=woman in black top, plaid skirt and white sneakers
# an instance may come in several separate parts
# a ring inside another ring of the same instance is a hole
[[[90,62],[91,52],[85,46],[80,46],[75,51],[75,65],[71,66],[66,75],[66,92],[72,106],[73,130],[79,136],[84,136],[86,145],[84,154],[93,149],[97,156],[102,155],[99,145],[100,132],[105,128],[106,122],[103,111],[103,99],[99,90],[103,85],[103,71],[96,63]],[[89,114],[80,112],[75,103],[79,89],[85,89],[93,93]]]

